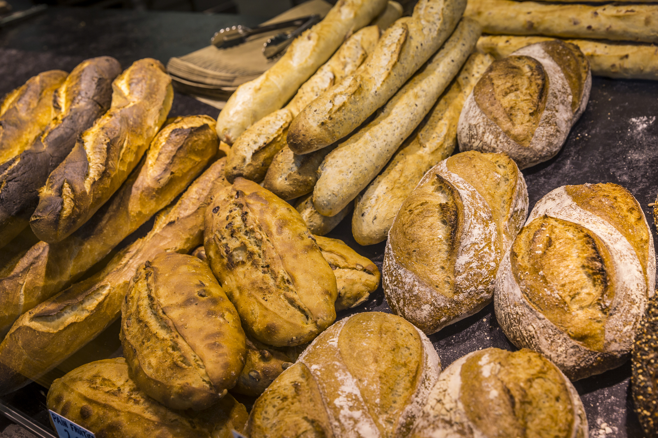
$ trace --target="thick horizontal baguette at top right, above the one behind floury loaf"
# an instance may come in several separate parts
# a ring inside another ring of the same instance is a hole
[[[468,0],[464,16],[482,32],[658,42],[658,5],[559,5],[534,1]]]

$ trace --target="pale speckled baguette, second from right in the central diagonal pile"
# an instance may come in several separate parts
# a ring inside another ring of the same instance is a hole
[[[479,36],[480,25],[475,20],[461,20],[441,50],[395,93],[380,114],[324,158],[313,189],[318,213],[338,214],[377,176],[457,75]]]

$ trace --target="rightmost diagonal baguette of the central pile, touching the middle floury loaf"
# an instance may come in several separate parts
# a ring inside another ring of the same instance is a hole
[[[492,60],[491,56],[478,53],[468,57],[420,129],[405,140],[363,195],[357,196],[352,234],[359,244],[372,245],[386,240],[395,213],[422,175],[453,153],[461,108]]]

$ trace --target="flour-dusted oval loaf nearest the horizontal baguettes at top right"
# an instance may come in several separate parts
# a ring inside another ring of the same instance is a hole
[[[590,63],[558,39],[523,47],[484,72],[459,116],[460,150],[507,152],[521,169],[553,158],[590,99]]]

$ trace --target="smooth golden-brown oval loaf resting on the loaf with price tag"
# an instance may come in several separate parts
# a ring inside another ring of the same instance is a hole
[[[172,409],[203,410],[245,364],[245,334],[207,263],[164,252],[141,265],[121,306],[121,345],[137,385]]]

